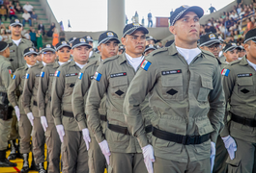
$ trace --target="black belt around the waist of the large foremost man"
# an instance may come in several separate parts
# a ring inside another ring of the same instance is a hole
[[[176,143],[181,143],[184,145],[189,144],[200,144],[208,141],[210,139],[210,134],[206,134],[204,136],[182,136],[177,134],[168,133],[165,131],[161,131],[153,127],[153,136],[156,136],[163,140],[173,141]]]

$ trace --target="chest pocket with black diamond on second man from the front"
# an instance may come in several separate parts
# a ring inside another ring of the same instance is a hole
[[[128,77],[117,77],[110,80],[110,93],[112,98],[125,98],[128,91]]]

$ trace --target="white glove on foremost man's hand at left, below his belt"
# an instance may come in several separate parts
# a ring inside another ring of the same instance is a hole
[[[146,164],[148,173],[154,173],[153,162],[155,162],[155,157],[152,145],[148,144],[141,149],[143,152],[144,162]]]

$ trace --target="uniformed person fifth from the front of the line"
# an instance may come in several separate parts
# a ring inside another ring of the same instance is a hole
[[[43,49],[44,52],[52,52],[52,49]],[[38,105],[41,123],[45,132],[48,173],[60,172],[61,140],[54,125],[53,117],[50,112],[51,90],[55,71],[60,65],[68,62],[71,57],[71,46],[67,41],[61,41],[56,44],[58,61],[47,63],[41,72],[41,79],[38,88]],[[52,52],[53,53],[53,52]],[[52,54],[55,59],[55,54]]]

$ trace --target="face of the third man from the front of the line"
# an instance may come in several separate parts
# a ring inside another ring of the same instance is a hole
[[[109,40],[106,43],[102,43],[98,46],[101,58],[106,59],[117,55],[118,53],[118,41]]]

